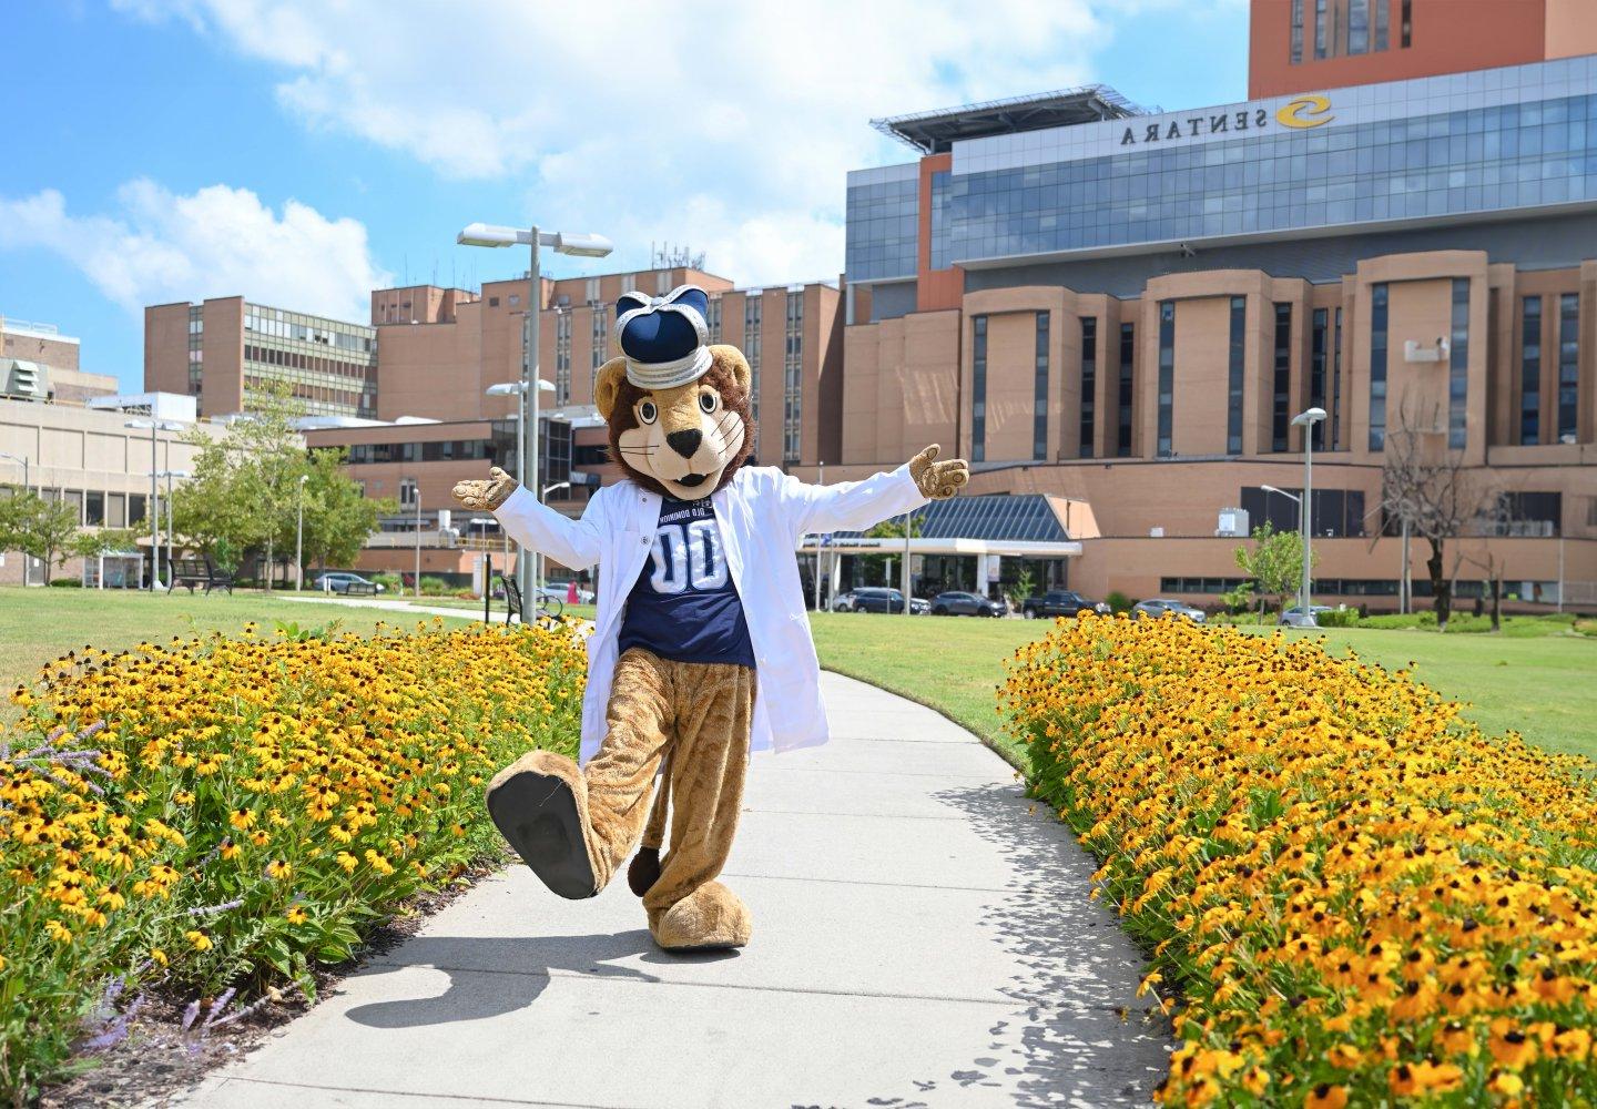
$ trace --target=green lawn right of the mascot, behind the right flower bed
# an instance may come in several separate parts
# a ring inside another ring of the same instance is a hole
[[[821,665],[929,705],[1014,761],[995,711],[1003,663],[1049,630],[1040,620],[966,620],[811,614]],[[1415,663],[1425,684],[1469,703],[1488,732],[1509,729],[1551,751],[1597,757],[1597,639],[1575,634],[1516,638],[1326,628],[1335,654],[1349,647],[1396,670]]]

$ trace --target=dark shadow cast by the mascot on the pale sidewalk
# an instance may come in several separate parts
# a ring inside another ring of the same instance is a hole
[[[599,978],[660,981],[628,967],[605,965],[655,952],[648,932],[637,928],[618,935],[588,936],[415,936],[404,941],[359,976],[382,975],[406,967],[434,967],[449,975],[449,989],[438,997],[406,997],[356,1005],[345,1016],[369,1028],[418,1028],[478,1021],[513,1013],[538,1000],[556,970]],[[661,956],[661,960],[664,957]],[[484,989],[482,976],[493,975],[495,989]]]

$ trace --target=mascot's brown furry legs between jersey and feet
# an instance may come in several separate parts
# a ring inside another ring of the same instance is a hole
[[[642,647],[621,654],[605,710],[610,730],[583,772],[600,888],[648,821],[661,759],[671,839],[644,908],[666,909],[720,874],[743,807],[754,684],[747,666],[671,662]]]

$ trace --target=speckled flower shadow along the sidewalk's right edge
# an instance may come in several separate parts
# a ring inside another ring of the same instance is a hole
[[[981,922],[1022,967],[1001,986],[1016,1012],[993,1021],[989,1051],[945,1082],[1011,1088],[1020,1106],[1148,1104],[1169,1067],[1172,1031],[1151,997],[1135,996],[1145,970],[1137,944],[1113,909],[1088,900],[1092,857],[1048,805],[1033,810],[1019,785],[934,796],[1011,868]]]

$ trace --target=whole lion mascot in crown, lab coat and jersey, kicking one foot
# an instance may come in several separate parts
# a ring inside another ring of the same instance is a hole
[[[707,307],[695,286],[616,302],[620,356],[599,369],[594,399],[626,479],[596,491],[580,519],[498,468],[455,486],[524,551],[600,566],[581,765],[529,751],[489,785],[489,813],[567,898],[599,893],[642,837],[628,879],[668,951],[749,941],[747,908],[715,880],[749,751],[826,741],[798,539],[869,529],[969,478],[963,460],[936,462],[936,446],[893,473],[834,486],[744,465],[749,363],[709,344]]]

